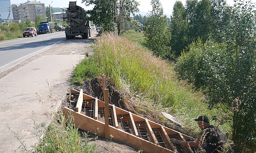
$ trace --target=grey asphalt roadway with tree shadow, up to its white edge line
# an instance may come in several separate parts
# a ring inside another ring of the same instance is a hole
[[[65,39],[65,32],[55,32],[0,42],[0,72]]]

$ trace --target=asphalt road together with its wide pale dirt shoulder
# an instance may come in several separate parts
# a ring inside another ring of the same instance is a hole
[[[95,38],[96,30],[92,33]],[[13,132],[28,149],[37,143],[34,121],[48,125],[60,110],[73,69],[92,42],[66,40],[64,32],[0,42],[0,67],[7,69],[0,71],[1,153],[26,152]]]

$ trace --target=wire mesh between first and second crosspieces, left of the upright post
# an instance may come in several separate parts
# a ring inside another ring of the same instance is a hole
[[[94,100],[83,100],[81,114],[89,116],[91,118],[94,117]]]

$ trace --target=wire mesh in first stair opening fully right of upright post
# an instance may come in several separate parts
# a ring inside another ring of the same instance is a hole
[[[134,135],[131,127],[131,119],[129,115],[117,115],[118,128],[124,130],[126,133]]]

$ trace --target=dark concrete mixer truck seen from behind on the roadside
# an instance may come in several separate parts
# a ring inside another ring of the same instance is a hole
[[[76,2],[69,2],[69,8],[66,11],[68,27],[65,28],[66,39],[73,39],[75,36],[82,36],[83,39],[91,37],[90,22],[87,20],[86,11]]]

